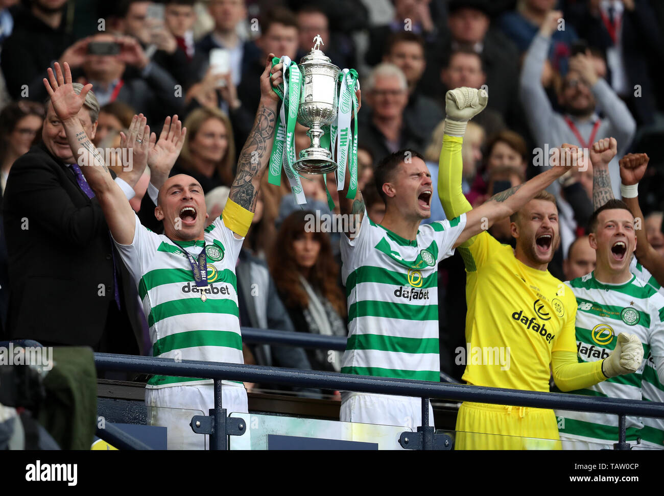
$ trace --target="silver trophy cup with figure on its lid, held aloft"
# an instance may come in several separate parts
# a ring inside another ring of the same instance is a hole
[[[293,166],[297,172],[326,174],[337,169],[329,150],[321,148],[323,126],[331,124],[337,117],[339,94],[339,68],[319,50],[323,44],[320,36],[313,38],[311,52],[299,61],[303,85],[300,95],[297,122],[308,127],[307,136],[311,146],[299,153]]]

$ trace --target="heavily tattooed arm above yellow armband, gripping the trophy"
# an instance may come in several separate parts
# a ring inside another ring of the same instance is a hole
[[[254,212],[256,208],[260,180],[270,163],[274,143],[279,97],[272,91],[272,87],[281,84],[283,78],[282,64],[277,64],[272,68],[273,57],[274,54],[268,55],[265,70],[260,76],[261,97],[256,120],[240,151],[237,173],[228,194],[228,200],[232,200],[250,212]],[[236,234],[236,237],[241,236]]]

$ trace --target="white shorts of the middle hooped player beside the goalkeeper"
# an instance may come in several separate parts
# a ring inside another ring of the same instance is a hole
[[[422,425],[422,399],[410,396],[370,395],[341,392],[341,422],[410,427]],[[434,425],[434,409],[429,403],[429,425]]]

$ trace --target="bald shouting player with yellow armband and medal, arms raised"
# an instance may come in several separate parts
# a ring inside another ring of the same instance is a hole
[[[50,81],[44,79],[72,150],[90,164],[82,167],[83,174],[138,286],[155,357],[243,361],[235,265],[274,141],[278,97],[272,87],[282,82],[282,72],[278,64],[270,75],[272,57],[270,54],[260,76],[262,97],[256,121],[240,152],[237,176],[222,217],[205,227],[208,214],[201,184],[191,176],[178,174],[159,188],[155,216],[163,221],[163,235],[141,225],[76,118],[92,85],[87,84],[76,95],[66,62],[64,77],[56,62],[55,75],[49,68]],[[145,147],[148,140],[155,143],[156,137],[149,135],[147,126],[140,131],[133,135],[129,146],[136,143],[134,147]],[[172,127],[171,131],[165,129],[169,137],[172,131]],[[181,145],[180,140],[178,149]],[[172,162],[175,158],[177,153]],[[248,411],[242,383],[223,381],[222,404],[228,413]],[[207,414],[214,408],[211,380],[154,376],[146,387],[145,405],[149,424],[167,426],[169,449],[205,446],[207,436],[195,434],[189,422],[194,414]]]

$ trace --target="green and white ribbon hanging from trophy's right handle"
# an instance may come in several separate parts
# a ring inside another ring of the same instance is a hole
[[[355,69],[344,69],[339,73],[341,89],[339,91],[339,109],[337,119],[330,127],[332,159],[335,160],[335,149],[339,149],[337,157],[337,190],[343,190],[346,179],[346,162],[348,162],[351,184],[347,198],[355,198],[357,194],[357,96],[356,87],[360,87]],[[355,133],[351,132],[351,111],[355,115]]]

